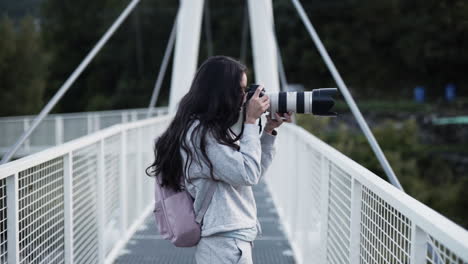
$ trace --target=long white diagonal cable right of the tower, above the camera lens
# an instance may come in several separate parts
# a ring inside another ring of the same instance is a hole
[[[322,59],[327,65],[328,70],[331,72],[333,79],[335,79],[335,82],[338,85],[338,88],[343,94],[343,97],[345,98],[346,103],[348,103],[348,106],[350,107],[351,112],[353,113],[359,126],[361,127],[361,130],[364,132],[364,135],[369,141],[369,144],[371,145],[372,150],[377,156],[377,159],[379,160],[380,165],[383,167],[385,174],[387,174],[389,181],[398,189],[403,190],[403,187],[401,186],[400,182],[398,181],[398,178],[393,172],[392,167],[390,166],[387,159],[385,158],[385,155],[382,152],[382,149],[380,149],[380,146],[377,143],[377,140],[375,139],[374,135],[372,134],[372,131],[369,129],[369,126],[367,125],[364,117],[362,116],[361,111],[359,111],[359,108],[354,102],[354,99],[351,96],[351,93],[349,92],[348,87],[344,83],[343,79],[341,78],[341,75],[339,74],[338,70],[335,67],[335,64],[333,63],[330,56],[328,55],[328,52],[323,46],[323,43],[320,40],[320,37],[315,31],[315,28],[312,26],[312,23],[310,22],[309,17],[304,11],[304,8],[302,7],[299,0],[291,0],[291,1],[293,2],[299,16],[301,17],[301,20],[304,23],[307,31],[309,32],[310,37],[314,41],[315,46],[317,47],[320,55],[322,56]]]

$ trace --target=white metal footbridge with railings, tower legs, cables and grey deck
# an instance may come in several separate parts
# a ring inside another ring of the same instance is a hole
[[[0,263],[193,261],[193,248],[176,249],[158,236],[154,179],[144,169],[152,140],[169,124],[196,69],[203,1],[182,1],[169,38],[166,54],[173,46],[175,54],[168,108],[154,108],[165,56],[148,109],[48,115],[138,2],[130,2],[37,117],[0,119],[2,155],[17,146],[18,158],[0,165]],[[292,2],[364,121],[299,1]],[[279,91],[285,78],[271,1],[248,3],[251,14],[265,12],[250,16],[257,81]],[[294,124],[279,129],[277,149],[265,181],[254,188],[265,229],[255,241],[255,263],[468,263],[468,232],[402,191],[391,169],[392,184]]]

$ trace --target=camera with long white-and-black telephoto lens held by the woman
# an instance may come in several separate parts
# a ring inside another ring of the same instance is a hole
[[[246,91],[247,101],[252,98],[258,86],[258,84],[249,85]],[[337,92],[336,88],[320,88],[311,92],[266,93],[265,88],[263,88],[259,96],[262,97],[266,94],[270,98],[270,108],[268,109],[270,113],[281,115],[291,111],[299,114],[336,116],[337,113],[330,110],[335,105],[332,96]]]

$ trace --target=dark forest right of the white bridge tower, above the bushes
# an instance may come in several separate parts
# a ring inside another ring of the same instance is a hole
[[[291,82],[334,81],[288,0],[274,1],[275,25]],[[441,97],[448,82],[467,96],[468,2],[303,1],[343,79],[360,98],[412,98],[424,85]]]

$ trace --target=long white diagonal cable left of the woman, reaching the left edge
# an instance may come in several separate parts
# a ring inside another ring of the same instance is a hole
[[[55,95],[50,99],[47,105],[41,110],[39,115],[34,118],[32,125],[26,130],[21,137],[16,141],[16,143],[8,150],[8,152],[3,156],[0,164],[7,163],[11,160],[13,155],[18,151],[21,145],[26,141],[26,139],[31,136],[32,132],[39,126],[42,120],[49,114],[50,110],[57,104],[57,102],[62,98],[62,96],[68,91],[70,86],[75,82],[75,80],[80,76],[83,70],[88,66],[92,59],[98,54],[104,44],[107,43],[109,38],[114,34],[114,32],[119,28],[122,22],[128,17],[128,15],[132,12],[132,10],[136,7],[136,5],[140,2],[140,0],[133,0],[131,1],[125,10],[120,14],[120,16],[114,21],[112,26],[106,31],[104,36],[101,37],[99,42],[93,47],[93,49],[86,55],[85,59],[80,63],[78,68],[68,77],[65,83],[60,87],[60,89],[55,93]]]

